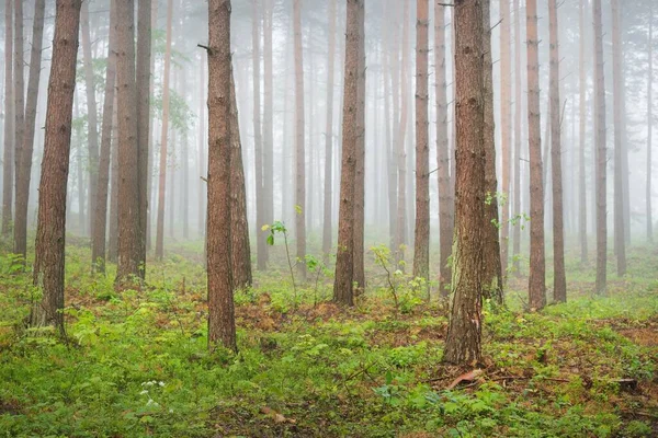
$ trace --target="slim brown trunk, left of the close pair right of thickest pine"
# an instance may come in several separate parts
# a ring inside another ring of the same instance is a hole
[[[546,306],[546,260],[544,255],[544,182],[540,114],[540,60],[537,2],[525,4],[527,33],[527,127],[530,140],[530,280],[529,306]]]

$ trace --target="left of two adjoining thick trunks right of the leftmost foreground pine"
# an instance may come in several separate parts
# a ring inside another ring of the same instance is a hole
[[[118,100],[118,265],[116,286],[141,278],[139,253],[139,154],[135,82],[135,1],[120,1],[116,10]]]

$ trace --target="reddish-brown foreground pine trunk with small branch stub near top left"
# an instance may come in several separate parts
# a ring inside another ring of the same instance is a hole
[[[231,269],[230,0],[208,1],[208,346],[237,351]]]

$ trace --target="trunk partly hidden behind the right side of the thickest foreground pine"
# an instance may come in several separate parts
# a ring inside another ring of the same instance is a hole
[[[491,19],[490,2],[483,1],[483,50],[485,92],[485,216],[483,220],[484,272],[483,296],[502,304],[502,267],[500,263],[500,234],[498,223],[498,180],[496,177],[496,126],[494,120],[494,66],[491,61]]]

